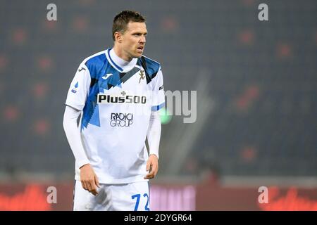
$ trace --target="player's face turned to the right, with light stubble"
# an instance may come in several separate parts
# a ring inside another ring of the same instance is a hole
[[[145,37],[147,36],[147,26],[145,23],[130,22],[127,30],[125,30],[123,37],[123,51],[128,58],[139,58],[142,56]]]

